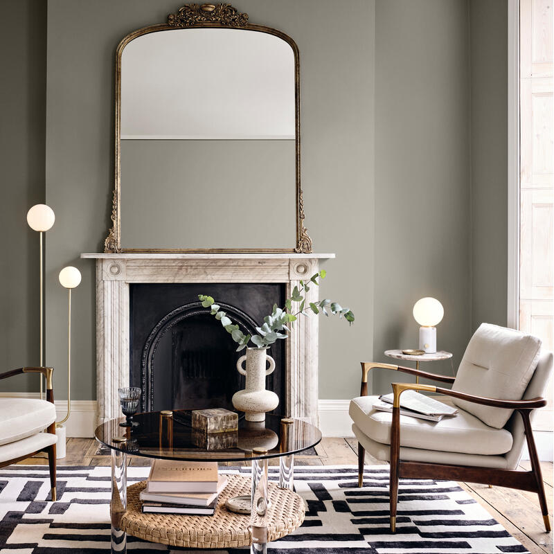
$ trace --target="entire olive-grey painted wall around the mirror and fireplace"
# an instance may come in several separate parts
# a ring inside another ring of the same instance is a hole
[[[48,2],[46,196],[41,6],[9,0],[1,8],[12,21],[2,51],[14,88],[0,91],[9,106],[0,209],[12,254],[1,276],[0,336],[5,364],[35,363],[37,236],[25,213],[46,199],[56,213],[47,238],[46,362],[58,368],[63,398],[66,292],[57,273],[76,265],[83,282],[73,294],[72,390],[75,400],[90,400],[94,266],[79,255],[100,251],[109,226],[114,50],[129,30],[163,21],[179,4]],[[502,323],[506,305],[506,84],[495,73],[506,60],[506,0],[357,0],[341,10],[330,0],[241,0],[238,7],[300,48],[306,224],[315,251],[337,253],[323,265],[321,295],[357,316],[352,328],[321,321],[320,397],[352,397],[360,359],[413,346],[411,307],[426,294],[445,305],[438,344],[457,363],[473,328]]]

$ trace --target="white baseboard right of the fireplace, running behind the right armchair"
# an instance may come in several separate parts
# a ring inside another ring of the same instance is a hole
[[[348,415],[350,400],[319,400],[319,429],[324,437],[352,437],[352,420]],[[539,459],[553,461],[554,434],[552,431],[533,431]],[[522,460],[528,460],[527,447]]]

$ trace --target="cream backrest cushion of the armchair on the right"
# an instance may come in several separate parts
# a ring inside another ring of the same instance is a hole
[[[541,341],[514,329],[481,323],[465,349],[454,391],[500,400],[521,400],[537,363]],[[454,404],[490,427],[501,429],[513,410],[454,398]]]

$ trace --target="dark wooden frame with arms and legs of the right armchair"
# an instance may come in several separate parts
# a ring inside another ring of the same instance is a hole
[[[361,362],[361,396],[368,394],[368,373],[373,368],[384,368],[402,371],[410,375],[418,375],[426,379],[435,381],[454,383],[455,377],[446,375],[436,375],[413,368],[394,366],[392,364],[375,364],[373,362]],[[449,388],[439,386],[416,384],[416,383],[393,383],[393,420],[391,427],[391,478],[390,478],[390,500],[391,500],[391,531],[394,533],[396,528],[396,506],[398,499],[398,481],[401,478],[411,479],[451,479],[452,481],[470,481],[470,483],[482,483],[488,485],[499,485],[502,487],[514,488],[519,490],[528,490],[536,492],[539,497],[539,504],[544,519],[546,533],[550,533],[551,526],[548,519],[548,506],[546,504],[546,495],[544,494],[544,483],[542,481],[542,471],[533,438],[533,429],[531,428],[530,413],[532,410],[546,406],[546,400],[542,397],[530,400],[497,400],[496,398],[486,398],[474,396],[466,393],[451,391]],[[492,406],[495,408],[508,408],[517,411],[523,420],[524,431],[531,461],[530,471],[502,470],[490,467],[474,467],[468,465],[447,465],[429,462],[409,462],[400,460],[400,395],[404,391],[427,391],[439,393],[450,397],[461,398],[483,404],[483,406]],[[358,443],[358,486],[363,485],[364,480],[364,456],[365,450]]]

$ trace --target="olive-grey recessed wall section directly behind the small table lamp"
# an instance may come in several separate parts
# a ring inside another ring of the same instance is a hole
[[[374,356],[418,348],[412,308],[434,296],[456,366],[471,321],[467,3],[377,0],[375,19]],[[374,375],[377,391],[391,382]]]

